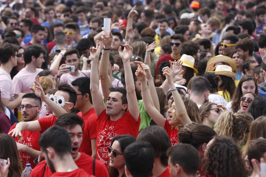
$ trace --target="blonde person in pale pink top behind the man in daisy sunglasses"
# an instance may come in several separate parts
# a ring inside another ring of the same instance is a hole
[[[40,84],[43,88],[44,94],[47,94],[47,91],[50,89],[55,89],[54,82],[51,78],[47,76],[41,76],[40,77]],[[36,89],[36,84],[33,84],[33,88]],[[46,106],[44,106],[45,102],[42,101],[42,109],[40,111],[39,117],[46,117],[47,110]]]

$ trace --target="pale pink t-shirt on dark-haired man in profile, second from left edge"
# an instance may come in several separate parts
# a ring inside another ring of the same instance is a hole
[[[30,87],[33,87],[33,83],[35,81],[35,77],[38,73],[43,71],[41,68],[36,68],[36,72],[32,73],[27,71],[25,68],[22,68],[20,72],[14,76],[12,83],[14,88],[14,94],[25,93],[29,94],[32,93]]]

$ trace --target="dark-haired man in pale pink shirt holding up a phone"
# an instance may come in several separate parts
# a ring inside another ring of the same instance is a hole
[[[65,64],[59,67],[55,80],[59,83],[67,83],[72,86],[72,81],[80,77],[90,77],[90,70],[80,71],[80,55],[76,49],[67,50],[64,53]],[[74,66],[74,72],[70,72],[69,66]]]

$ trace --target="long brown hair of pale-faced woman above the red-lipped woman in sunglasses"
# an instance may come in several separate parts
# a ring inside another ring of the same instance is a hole
[[[251,74],[246,74],[244,75],[243,77],[241,77],[240,81],[239,81],[239,84],[238,86],[236,87],[236,90],[232,96],[232,110],[233,112],[237,112],[239,110],[239,104],[240,104],[240,97],[245,94],[245,93],[242,93],[242,84],[245,82],[245,81],[250,81],[250,80],[253,80],[254,83],[255,83],[255,94],[258,95],[258,85],[257,85],[257,80],[254,76],[252,76]]]

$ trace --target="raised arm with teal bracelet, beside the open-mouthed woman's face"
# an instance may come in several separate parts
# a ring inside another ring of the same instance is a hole
[[[171,61],[170,61],[171,62]],[[173,72],[172,70],[167,66],[163,68],[163,75],[166,76],[166,80],[170,86],[172,95],[173,95],[173,99],[176,105],[176,112],[182,122],[183,125],[191,123],[192,121],[189,119],[187,112],[186,112],[186,107],[185,104],[183,102],[183,100],[181,99],[174,83],[173,83]]]

